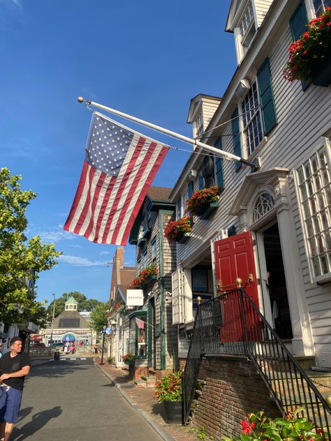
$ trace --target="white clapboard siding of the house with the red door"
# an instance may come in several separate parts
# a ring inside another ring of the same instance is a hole
[[[270,3],[272,1],[256,0],[256,8],[261,19],[263,10]],[[266,56],[270,59],[278,125],[257,153],[262,160],[260,171],[274,167],[295,169],[312,151],[323,145],[323,134],[331,129],[331,88],[316,87],[311,84],[306,91],[302,91],[300,82],[290,83],[284,80],[282,70],[288,59],[288,46],[292,42],[288,21],[274,24],[274,32],[277,33],[277,38],[271,38],[270,51]],[[258,63],[252,61],[252,64],[258,68],[262,61]],[[233,109],[234,104],[230,103],[224,114],[228,117]],[[222,134],[231,134],[230,124],[225,126]],[[233,153],[230,136],[223,137],[223,150]],[[248,167],[242,167],[239,172],[235,172],[234,163],[224,160],[223,172],[226,188],[221,193],[218,211],[207,221],[196,219],[191,239],[177,248],[178,260],[192,264],[194,259],[198,260],[199,250],[216,234],[216,231],[238,225],[237,217],[230,216],[229,210],[242,180],[251,171]],[[196,182],[195,189],[197,186]],[[331,314],[325,312],[330,309],[331,304],[330,285],[311,283],[294,180],[290,181],[290,202],[300,255],[297,269],[304,282],[302,301],[307,304],[309,311],[317,361],[321,366],[331,366]]]

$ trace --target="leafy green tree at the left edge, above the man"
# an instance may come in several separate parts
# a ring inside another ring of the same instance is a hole
[[[0,169],[0,317],[7,324],[42,324],[45,307],[36,301],[35,283],[41,271],[57,264],[61,253],[54,244],[42,244],[39,236],[25,236],[27,207],[36,193],[21,190],[21,179]]]

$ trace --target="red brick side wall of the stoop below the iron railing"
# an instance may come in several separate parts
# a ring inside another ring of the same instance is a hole
[[[279,410],[270,398],[260,375],[244,357],[210,357],[203,360],[199,380],[205,380],[202,394],[196,396],[192,425],[205,427],[219,440],[221,435],[240,433],[240,420],[249,412],[265,410],[270,417]]]

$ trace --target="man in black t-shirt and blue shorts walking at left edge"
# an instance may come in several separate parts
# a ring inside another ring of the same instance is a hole
[[[0,359],[0,387],[6,392],[6,399],[1,399],[0,441],[9,441],[15,423],[18,420],[25,375],[30,371],[30,357],[22,352],[23,341],[20,337],[10,340],[10,352]]]

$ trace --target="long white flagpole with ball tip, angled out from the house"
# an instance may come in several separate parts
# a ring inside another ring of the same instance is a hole
[[[149,128],[152,128],[153,130],[158,130],[159,132],[165,133],[165,135],[170,135],[172,137],[175,137],[178,140],[182,140],[184,142],[189,142],[189,144],[194,144],[198,147],[202,147],[204,150],[212,151],[213,153],[216,153],[220,156],[224,156],[228,160],[237,160],[242,164],[249,165],[249,167],[251,167],[253,170],[256,170],[256,168],[257,168],[256,164],[251,163],[247,159],[240,158],[240,156],[233,155],[233,154],[229,153],[228,151],[216,149],[216,147],[212,147],[208,144],[205,144],[204,142],[200,142],[198,140],[193,140],[193,138],[189,138],[184,135],[179,135],[179,133],[172,132],[172,130],[168,130],[167,128],[156,126],[155,124],[144,121],[143,119],[139,119],[139,118],[133,117],[129,114],[119,112],[119,110],[115,110],[110,107],[106,107],[105,105],[102,105],[99,103],[94,103],[94,101],[84,100],[84,98],[82,96],[78,97],[78,101],[80,103],[87,103],[87,105],[93,105],[94,107],[98,107],[99,109],[105,110],[106,112],[110,112],[115,115],[118,115],[119,117],[130,119],[131,121],[134,121],[135,123],[142,124],[143,126],[147,126]]]

